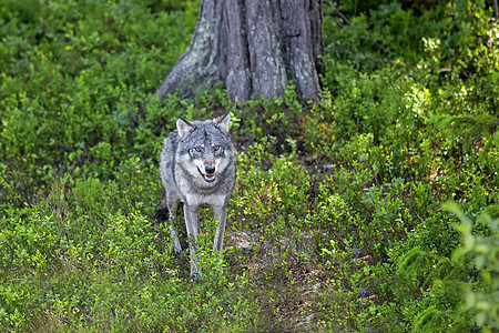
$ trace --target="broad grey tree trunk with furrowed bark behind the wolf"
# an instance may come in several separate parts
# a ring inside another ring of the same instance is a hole
[[[155,92],[181,98],[223,82],[233,101],[284,97],[292,81],[316,101],[322,0],[201,0],[189,49]]]

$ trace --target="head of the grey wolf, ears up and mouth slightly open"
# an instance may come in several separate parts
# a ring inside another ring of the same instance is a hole
[[[217,183],[234,162],[234,148],[228,135],[230,121],[230,112],[213,120],[176,120],[179,165],[200,186],[207,188]]]

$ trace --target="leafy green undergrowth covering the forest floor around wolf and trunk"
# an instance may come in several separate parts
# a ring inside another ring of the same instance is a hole
[[[499,330],[499,30],[482,1],[324,1],[320,103],[151,97],[198,1],[0,3],[0,327]],[[232,112],[225,251],[169,224],[177,117]],[[185,248],[185,246],[184,246]]]

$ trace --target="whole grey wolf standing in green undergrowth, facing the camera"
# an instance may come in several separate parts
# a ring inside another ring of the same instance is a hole
[[[180,203],[184,205],[189,236],[191,275],[201,280],[196,242],[200,208],[213,210],[218,220],[213,249],[223,250],[227,202],[236,179],[236,154],[228,133],[231,113],[212,120],[176,120],[176,130],[164,140],[160,159],[161,181],[165,195],[157,210],[167,209],[171,222],[176,219]],[[182,251],[174,223],[170,232],[173,248]]]

